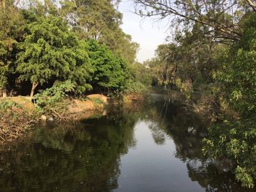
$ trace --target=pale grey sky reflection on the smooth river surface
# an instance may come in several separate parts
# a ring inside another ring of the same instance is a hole
[[[176,158],[176,145],[164,131],[165,143],[157,145],[149,128],[152,124],[157,126],[150,120],[136,123],[136,147],[121,156],[118,188],[113,191],[205,191],[188,177],[187,162]],[[161,130],[156,127],[156,131]]]

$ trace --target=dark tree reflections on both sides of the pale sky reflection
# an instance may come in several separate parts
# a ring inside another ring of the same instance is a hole
[[[148,123],[156,145],[173,139],[176,158],[205,191],[248,191],[235,182],[230,167],[201,153],[205,123],[181,104],[161,99],[116,108],[106,117],[34,129],[1,150],[0,191],[113,191],[121,156],[136,147],[138,121]]]

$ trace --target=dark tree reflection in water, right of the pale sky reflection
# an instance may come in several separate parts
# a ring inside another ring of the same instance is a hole
[[[206,135],[206,120],[184,110],[180,103],[168,101],[153,104],[154,110],[148,117],[149,128],[157,145],[163,145],[166,137],[176,145],[176,158],[187,163],[188,175],[197,181],[205,191],[254,191],[242,188],[236,182],[229,162],[212,161],[202,153],[201,140]],[[190,129],[190,130],[189,130]]]

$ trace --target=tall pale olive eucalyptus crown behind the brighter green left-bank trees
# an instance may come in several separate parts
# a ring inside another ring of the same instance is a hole
[[[107,45],[110,50],[130,64],[135,61],[138,44],[120,28],[122,14],[113,0],[64,0],[61,15],[80,39],[94,39]]]

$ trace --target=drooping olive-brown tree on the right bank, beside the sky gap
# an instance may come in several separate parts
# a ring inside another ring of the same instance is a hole
[[[219,68],[214,58],[223,46],[203,38],[201,27],[195,23],[191,30],[178,32],[175,41],[157,47],[156,57],[148,63],[160,85],[178,88],[187,98],[202,85],[209,87]]]

